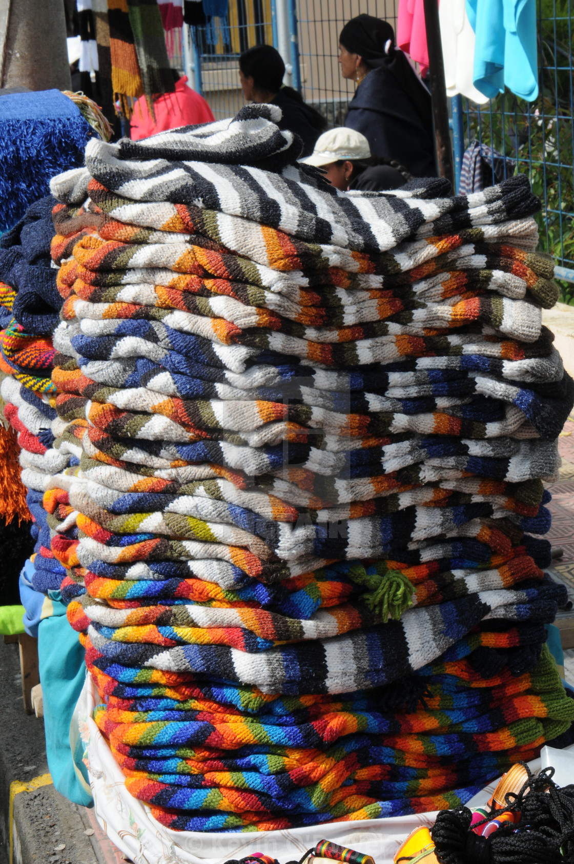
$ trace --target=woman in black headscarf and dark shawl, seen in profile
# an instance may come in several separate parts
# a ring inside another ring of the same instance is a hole
[[[430,92],[395,48],[394,30],[371,15],[341,30],[343,78],[357,84],[345,125],[361,132],[373,156],[396,159],[416,177],[437,175]]]

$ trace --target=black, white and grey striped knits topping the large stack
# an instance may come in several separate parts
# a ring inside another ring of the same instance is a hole
[[[266,107],[269,109],[270,106]],[[249,111],[250,115],[263,113],[260,108],[256,111],[255,106],[249,106],[242,111]],[[272,112],[271,109],[270,113]],[[243,119],[241,112],[238,118]],[[226,130],[227,146],[224,149],[232,151],[233,160],[237,159],[239,162],[245,159],[246,162],[255,165],[263,163],[262,167],[267,166],[270,158],[268,153],[275,147],[278,132],[274,124],[263,127],[265,135],[260,129],[259,118],[252,119],[251,123],[248,121],[239,124],[233,121],[230,124],[229,121],[221,121],[221,124],[229,126]],[[234,129],[234,125],[238,126],[239,130]],[[266,187],[268,182],[266,172],[259,173],[262,168],[207,162],[206,157],[213,156],[215,147],[220,151],[222,149],[220,136],[208,134],[211,131],[210,126],[211,124],[207,124],[195,133],[197,142],[194,142],[195,146],[190,153],[191,156],[203,157],[205,162],[154,159],[153,176],[147,178],[144,183],[142,182],[143,162],[129,162],[118,158],[121,154],[120,145],[92,141],[86,147],[86,171],[105,188],[117,192],[122,197],[124,197],[124,189],[129,189],[134,199],[137,199],[138,195],[149,201],[174,198],[177,199],[177,203],[182,204],[195,204],[200,199],[203,206],[210,209],[220,210],[232,216],[245,217],[271,228],[280,227],[287,234],[293,234],[297,238],[313,243],[341,246],[349,251],[386,251],[406,238],[450,234],[460,229],[481,227],[485,224],[494,224],[496,229],[497,223],[507,220],[518,220],[517,227],[520,234],[524,230],[520,220],[539,209],[539,201],[534,198],[526,177],[523,176],[513,177],[500,186],[490,187],[482,193],[466,198],[435,199],[434,206],[427,207],[422,204],[416,206],[414,203],[416,194],[420,191],[420,184],[425,181],[418,181],[418,187],[412,191],[400,189],[392,196],[390,194],[371,197],[368,194],[348,196],[337,192],[333,187],[326,186],[321,177],[317,178],[316,186],[310,185],[307,182],[309,181],[307,172],[291,165],[284,168],[283,175],[274,176],[274,192],[271,198],[270,189]],[[269,127],[271,132],[267,132]],[[153,139],[155,142],[156,138],[169,137],[169,143],[175,141],[176,145],[178,134],[186,134],[192,139],[194,137],[194,133],[178,131],[163,132]],[[281,135],[289,141],[290,133],[284,132]],[[215,144],[212,139],[215,139]],[[146,143],[149,140],[145,139],[143,143],[131,142],[123,146],[131,151],[141,144],[145,151],[150,147],[150,144]],[[284,141],[282,144],[284,146]],[[284,153],[282,161],[288,160],[291,156],[289,148],[284,149]],[[218,155],[220,160],[224,161],[226,153],[224,155],[220,152]],[[202,169],[206,162],[206,168]],[[195,165],[198,170],[195,170]],[[176,188],[170,188],[174,185],[173,180],[169,183],[163,178],[174,170],[177,172],[178,182]],[[233,182],[235,190],[231,198],[224,195],[224,189],[229,187],[230,182]],[[417,181],[412,182],[415,185],[417,183]],[[63,181],[53,181],[51,189],[54,196],[60,200],[63,195],[68,197],[66,183]],[[410,200],[409,205],[405,204],[405,199]],[[487,230],[486,233],[488,238],[491,232]],[[495,230],[494,234],[496,233]]]

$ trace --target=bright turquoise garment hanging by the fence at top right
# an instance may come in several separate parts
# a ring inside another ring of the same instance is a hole
[[[473,81],[488,98],[506,85],[532,102],[538,96],[536,0],[466,0],[476,34]]]

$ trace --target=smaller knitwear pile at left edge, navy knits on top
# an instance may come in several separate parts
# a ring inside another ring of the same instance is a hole
[[[56,203],[51,195],[35,201],[0,240],[0,393],[4,416],[17,433],[26,503],[34,519],[34,554],[23,578],[44,594],[59,589],[66,575],[52,553],[54,525],[42,505],[52,475],[69,464],[68,454],[54,451],[51,431],[56,418],[52,334],[63,302],[50,258]]]

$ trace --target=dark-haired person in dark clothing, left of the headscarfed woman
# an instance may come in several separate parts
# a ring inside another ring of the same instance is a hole
[[[271,45],[248,48],[239,57],[239,79],[247,102],[271,102],[278,105],[283,118],[279,129],[296,132],[303,139],[303,156],[309,156],[327,122],[321,114],[305,105],[293,87],[283,86],[285,64]]]

